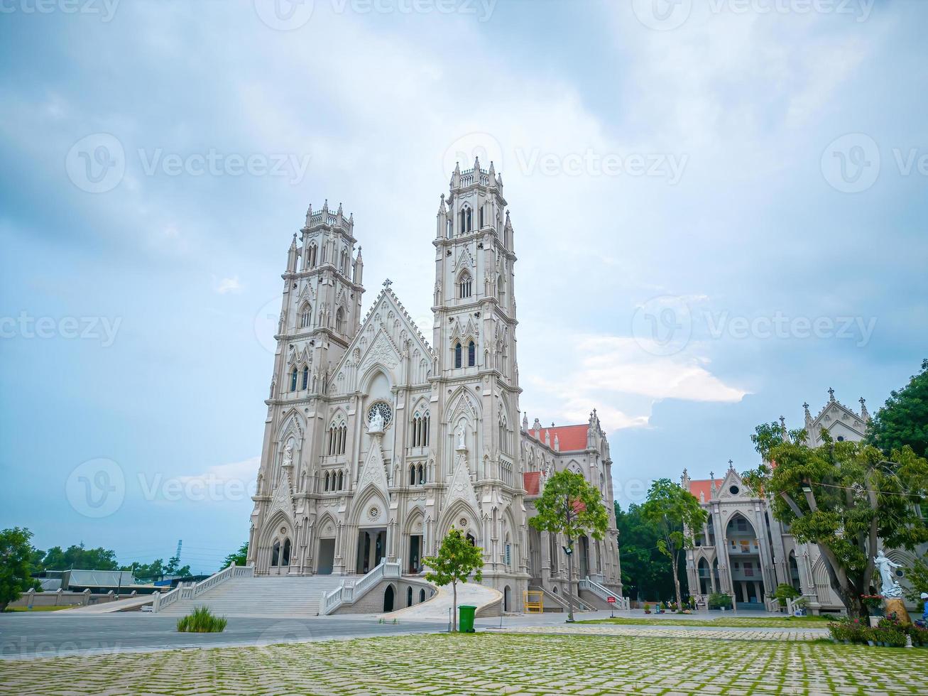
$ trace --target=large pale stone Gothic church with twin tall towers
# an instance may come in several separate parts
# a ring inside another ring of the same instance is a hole
[[[563,539],[528,526],[555,470],[602,493],[610,528],[578,541],[577,578],[621,592],[612,461],[595,411],[520,419],[514,230],[502,178],[456,167],[436,218],[432,342],[383,283],[362,314],[354,219],[306,213],[283,274],[277,352],[251,513],[256,574],[422,572],[452,525],[483,549],[483,584],[522,606],[562,593]],[[423,243],[423,253],[425,253]]]

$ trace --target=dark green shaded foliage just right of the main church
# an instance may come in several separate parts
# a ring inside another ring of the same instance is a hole
[[[623,511],[615,505],[615,526],[619,530],[622,557],[622,586],[633,599],[660,600],[674,593],[674,569],[657,547],[657,527],[644,519],[641,506],[631,503]],[[681,567],[678,575],[683,573]]]

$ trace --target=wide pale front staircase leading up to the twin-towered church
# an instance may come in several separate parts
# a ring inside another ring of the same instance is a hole
[[[323,595],[345,579],[343,575],[233,577],[198,597],[178,599],[155,615],[184,616],[205,606],[219,616],[316,616]]]

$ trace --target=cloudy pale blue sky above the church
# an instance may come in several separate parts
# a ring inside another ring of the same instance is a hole
[[[40,548],[218,567],[306,207],[354,213],[367,300],[392,278],[431,335],[474,154],[516,230],[522,408],[597,407],[625,502],[926,356],[916,0],[71,7],[0,18],[0,525]]]

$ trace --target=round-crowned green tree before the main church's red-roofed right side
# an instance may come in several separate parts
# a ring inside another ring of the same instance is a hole
[[[574,539],[589,533],[601,540],[609,526],[609,514],[602,504],[599,489],[586,483],[582,474],[558,471],[545,483],[541,497],[535,500],[537,514],[528,521],[535,529],[548,534],[562,534],[567,539],[567,621],[574,621]]]

